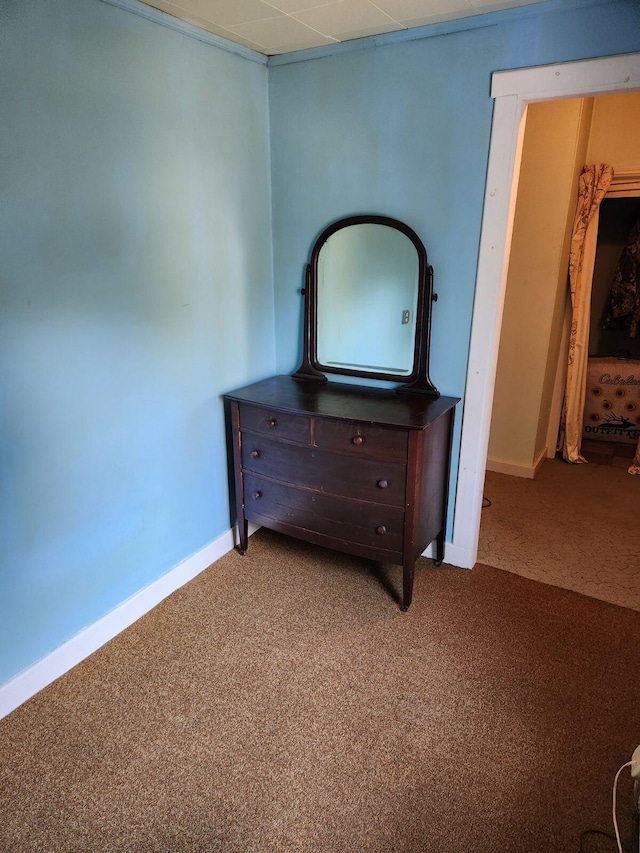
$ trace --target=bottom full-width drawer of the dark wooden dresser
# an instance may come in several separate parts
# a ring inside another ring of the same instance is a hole
[[[404,511],[298,489],[255,474],[244,475],[247,518],[272,519],[347,542],[402,553]]]

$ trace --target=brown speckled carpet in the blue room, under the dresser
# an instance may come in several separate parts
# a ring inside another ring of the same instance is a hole
[[[399,585],[259,531],[0,721],[0,850],[578,853],[611,830],[640,614],[483,566],[420,560],[407,614]],[[627,843],[632,812],[624,773]]]

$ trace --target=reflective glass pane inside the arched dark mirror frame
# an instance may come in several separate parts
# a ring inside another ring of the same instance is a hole
[[[394,227],[366,222],[331,234],[317,265],[318,367],[409,376],[419,273],[416,247]]]

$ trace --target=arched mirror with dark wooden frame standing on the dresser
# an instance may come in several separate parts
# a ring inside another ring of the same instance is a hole
[[[433,270],[418,235],[397,219],[351,216],[316,240],[306,270],[304,354],[295,379],[326,373],[438,391],[429,379]]]

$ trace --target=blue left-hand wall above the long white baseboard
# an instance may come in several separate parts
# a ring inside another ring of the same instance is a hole
[[[229,529],[274,339],[265,65],[98,0],[0,38],[2,683]]]

